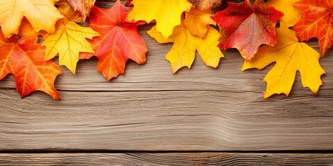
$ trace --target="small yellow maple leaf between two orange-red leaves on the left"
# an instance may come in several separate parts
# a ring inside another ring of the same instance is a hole
[[[42,43],[46,46],[45,60],[59,54],[59,64],[65,65],[75,74],[79,53],[94,53],[85,38],[99,36],[92,28],[78,26],[73,21],[61,19],[56,24],[56,31]]]

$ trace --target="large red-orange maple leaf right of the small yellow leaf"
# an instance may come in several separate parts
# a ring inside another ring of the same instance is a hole
[[[93,7],[89,17],[89,27],[101,34],[91,41],[99,58],[97,70],[108,80],[124,73],[128,59],[138,64],[146,62],[147,48],[137,32],[137,26],[144,22],[127,22],[128,12],[118,0],[110,10]],[[80,58],[89,59],[92,55],[85,53]]]

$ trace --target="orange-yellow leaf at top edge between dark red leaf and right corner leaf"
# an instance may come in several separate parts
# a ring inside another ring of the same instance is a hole
[[[266,6],[274,7],[276,10],[283,12],[284,16],[281,18],[287,26],[294,26],[302,17],[302,12],[293,8],[292,4],[300,0],[269,0]]]

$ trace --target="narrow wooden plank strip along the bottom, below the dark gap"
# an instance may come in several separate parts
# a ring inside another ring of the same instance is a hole
[[[333,165],[332,154],[0,154],[0,165]]]

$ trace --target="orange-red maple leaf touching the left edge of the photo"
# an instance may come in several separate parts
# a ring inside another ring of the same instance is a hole
[[[16,42],[16,35],[5,39],[0,29],[0,80],[12,73],[21,98],[33,91],[44,91],[60,100],[53,82],[62,72],[52,61],[44,61],[45,48],[35,44],[35,35],[31,33]]]

